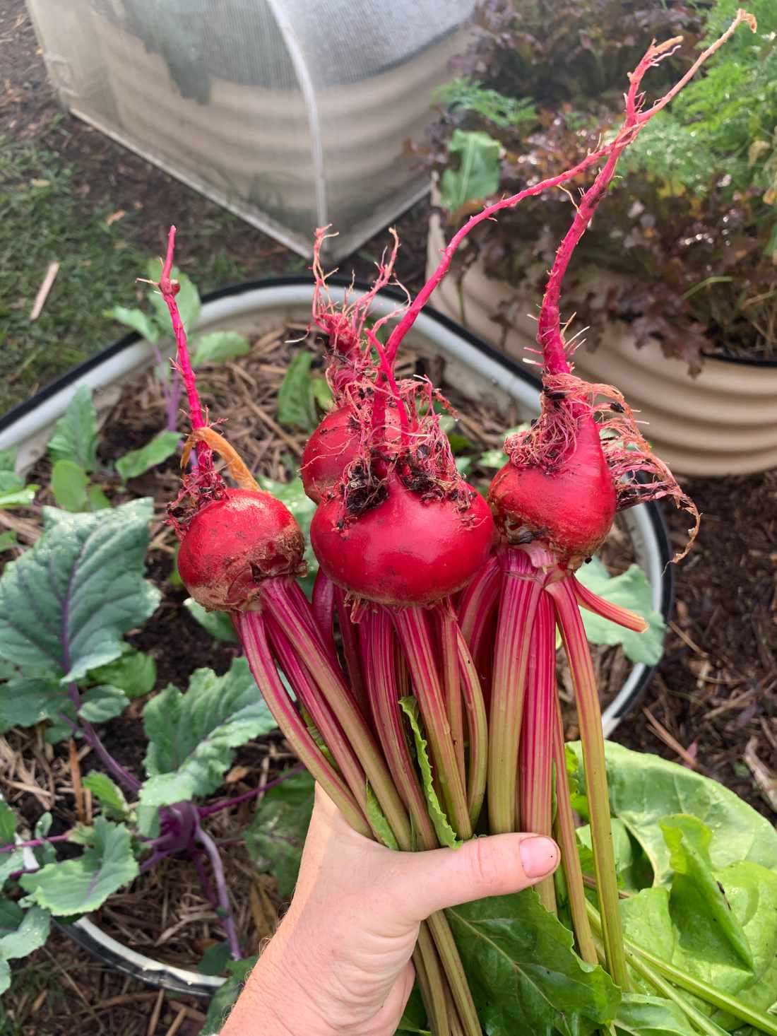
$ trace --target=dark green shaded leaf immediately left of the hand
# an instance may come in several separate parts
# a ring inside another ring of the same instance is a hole
[[[246,846],[257,868],[270,873],[279,895],[294,892],[305,836],[313,812],[313,778],[295,774],[271,787],[246,829]]]

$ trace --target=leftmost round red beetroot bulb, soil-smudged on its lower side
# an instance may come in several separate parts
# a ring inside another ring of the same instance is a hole
[[[294,516],[269,493],[227,489],[192,519],[178,572],[205,608],[243,611],[269,576],[296,575],[305,544]]]

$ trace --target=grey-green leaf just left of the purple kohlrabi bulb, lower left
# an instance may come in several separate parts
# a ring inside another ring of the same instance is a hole
[[[28,893],[25,903],[37,903],[55,917],[66,917],[96,910],[111,893],[137,876],[130,832],[123,824],[97,816],[92,844],[80,857],[49,863],[34,874],[22,874],[19,884]]]

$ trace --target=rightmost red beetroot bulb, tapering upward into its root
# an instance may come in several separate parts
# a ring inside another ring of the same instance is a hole
[[[615,516],[615,487],[592,419],[552,469],[509,461],[494,477],[489,502],[509,543],[547,547],[576,569],[597,550]]]

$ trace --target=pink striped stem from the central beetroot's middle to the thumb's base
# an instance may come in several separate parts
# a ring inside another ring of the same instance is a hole
[[[471,838],[472,825],[448,722],[445,698],[434,661],[427,611],[419,607],[396,608],[392,614],[407,659],[415,698],[429,740],[435,776],[451,825],[459,838]],[[436,610],[436,609],[433,609]]]

